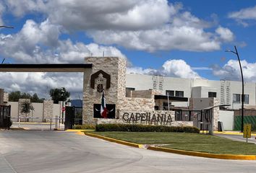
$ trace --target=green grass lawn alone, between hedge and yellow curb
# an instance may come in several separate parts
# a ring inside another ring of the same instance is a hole
[[[166,144],[165,148],[187,151],[201,151],[211,154],[247,154],[256,155],[256,145],[232,141],[218,136],[197,133],[161,133],[161,132],[92,132],[109,138],[140,144]]]

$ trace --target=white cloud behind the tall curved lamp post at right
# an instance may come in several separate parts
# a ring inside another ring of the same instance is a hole
[[[256,63],[241,61],[244,81],[256,82]],[[213,66],[213,74],[221,79],[240,81],[241,72],[239,62],[229,60],[223,67]]]

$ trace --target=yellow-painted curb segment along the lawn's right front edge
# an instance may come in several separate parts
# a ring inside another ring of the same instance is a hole
[[[154,150],[154,151],[163,151],[163,152],[182,154],[182,155],[188,155],[188,156],[200,156],[200,157],[207,157],[207,158],[213,158],[213,159],[256,160],[255,155],[208,154],[208,153],[201,153],[196,151],[184,151],[184,150],[161,148],[161,147],[154,147],[154,146],[149,146],[148,149]]]

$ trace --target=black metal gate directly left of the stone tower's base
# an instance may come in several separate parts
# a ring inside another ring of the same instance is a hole
[[[82,107],[66,107],[65,130],[72,129],[74,125],[82,125]]]

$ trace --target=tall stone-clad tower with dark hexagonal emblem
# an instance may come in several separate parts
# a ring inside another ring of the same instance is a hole
[[[85,63],[92,63],[91,73],[84,74],[83,123],[94,124],[93,105],[101,104],[102,89],[106,104],[116,105],[119,116],[121,101],[125,97],[126,60],[119,57],[86,57]]]

